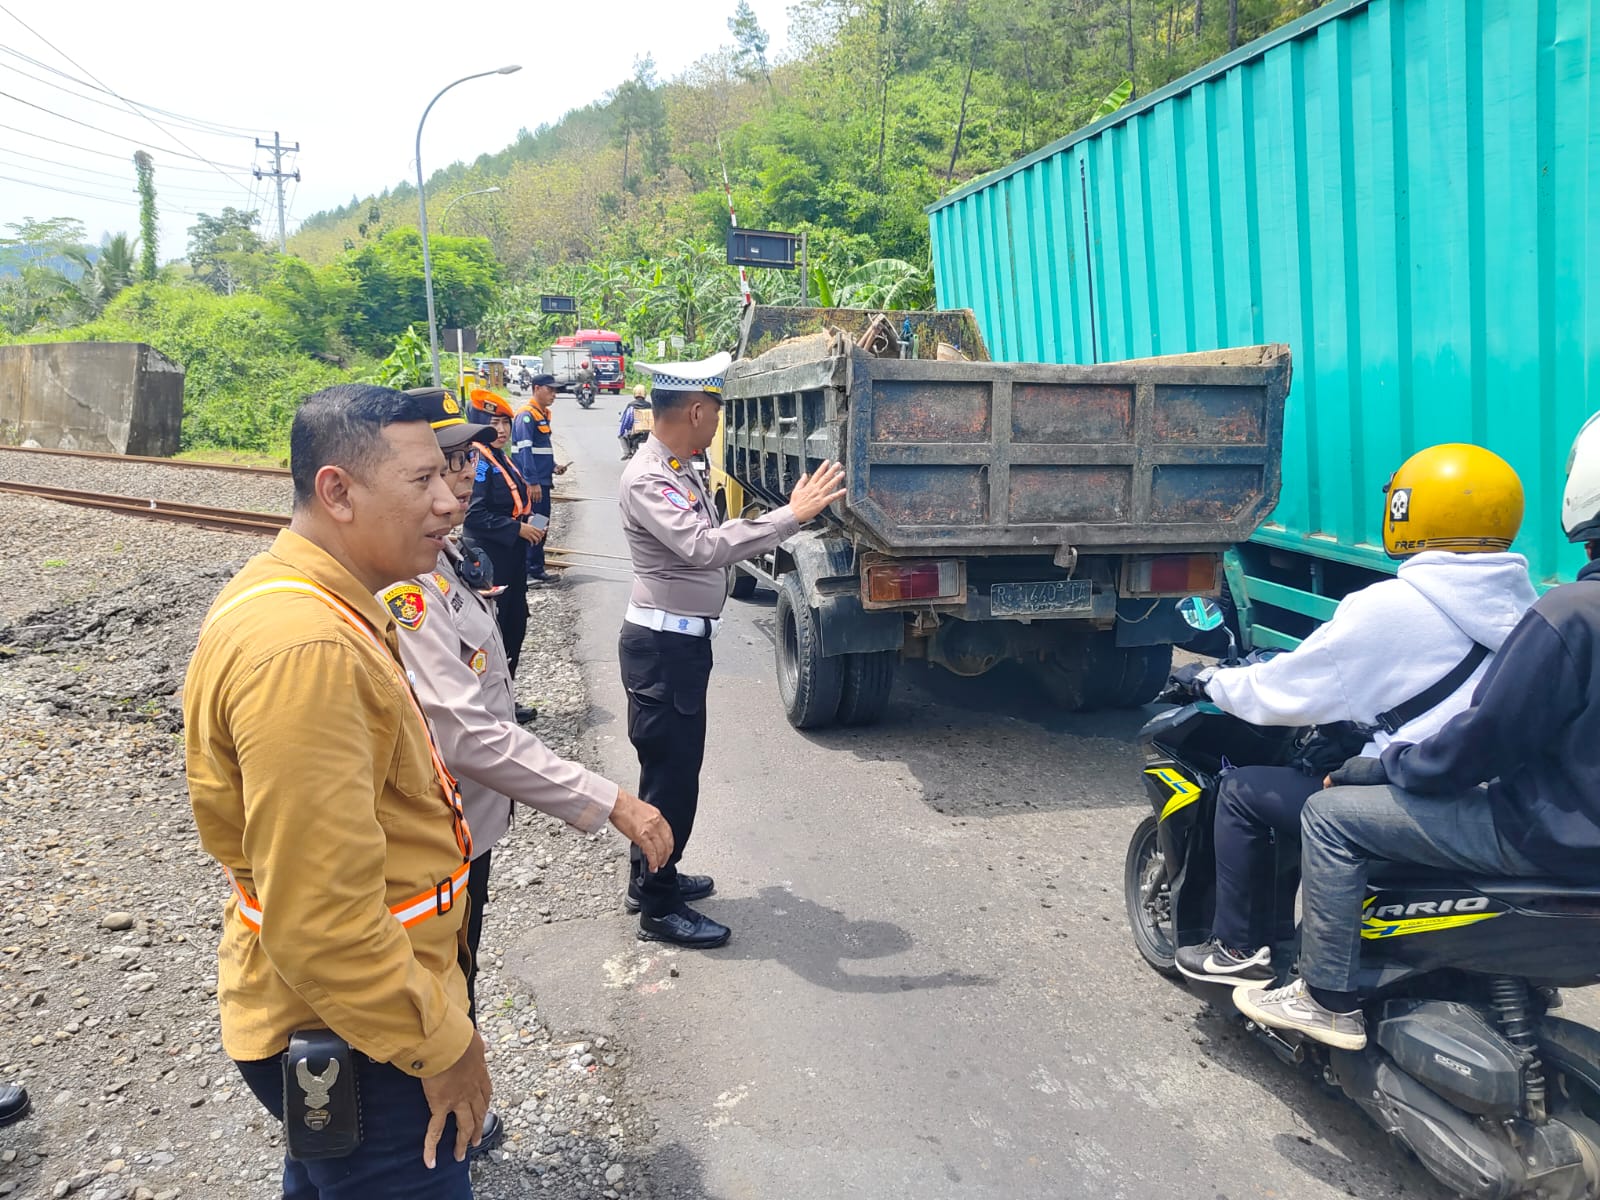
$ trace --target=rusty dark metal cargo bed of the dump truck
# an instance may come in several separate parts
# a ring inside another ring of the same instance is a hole
[[[1285,346],[1094,366],[874,358],[837,334],[736,362],[723,462],[766,504],[840,459],[885,554],[1197,549],[1278,499]]]

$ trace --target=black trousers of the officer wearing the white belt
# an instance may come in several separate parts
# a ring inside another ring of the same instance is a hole
[[[627,688],[627,739],[638,754],[638,798],[654,805],[672,827],[672,858],[648,870],[634,846],[632,877],[640,910],[662,917],[678,907],[678,859],[694,832],[699,768],[706,757],[706,686],[710,638],[622,626],[618,642]]]

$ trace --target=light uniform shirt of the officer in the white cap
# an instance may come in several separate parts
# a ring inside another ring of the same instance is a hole
[[[678,616],[717,616],[728,566],[800,531],[786,504],[755,520],[717,523],[699,472],[651,434],[622,469],[622,533],[634,558],[632,602]]]

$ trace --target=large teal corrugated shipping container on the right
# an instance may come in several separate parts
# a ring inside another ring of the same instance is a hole
[[[1541,584],[1600,408],[1600,0],[1334,0],[930,210],[997,360],[1288,342],[1283,493],[1229,579],[1293,645],[1390,571],[1382,485],[1475,442]]]

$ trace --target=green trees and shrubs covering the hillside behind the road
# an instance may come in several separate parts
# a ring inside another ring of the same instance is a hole
[[[571,318],[645,355],[733,344],[726,178],[739,221],[805,234],[808,272],[754,270],[758,302],[928,307],[923,206],[1306,14],[1320,0],[802,0],[790,50],[744,0],[728,45],[675,78],[648,58],[603,99],[427,184],[440,328],[542,352]],[[130,165],[141,232],[91,245],[70,218],[0,238],[0,341],[144,341],[184,365],[186,451],[283,451],[331,382],[427,373],[416,187],[307,219],[280,254],[261,214],[202,214],[154,245],[160,181]],[[478,189],[491,195],[464,198]],[[165,267],[157,267],[168,259]]]

